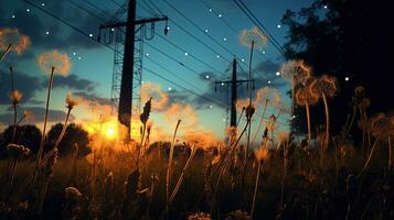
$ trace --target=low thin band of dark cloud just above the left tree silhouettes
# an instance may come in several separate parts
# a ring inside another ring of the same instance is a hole
[[[42,107],[31,107],[31,108],[21,108],[20,111],[29,111],[33,116],[33,123],[41,123],[44,121],[45,108]],[[66,117],[65,111],[60,110],[50,110],[49,111],[49,122],[62,122]],[[70,116],[70,120],[73,121],[75,119],[74,116]],[[11,124],[13,120],[13,113],[8,111],[6,113],[0,114],[0,123]]]

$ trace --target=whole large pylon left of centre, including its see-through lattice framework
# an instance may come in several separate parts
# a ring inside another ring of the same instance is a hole
[[[143,41],[155,36],[155,23],[166,21],[167,16],[137,19],[137,0],[129,0],[116,12],[111,21],[99,26],[106,30],[104,43],[115,44],[111,102],[118,109],[118,121],[127,128],[125,141],[130,140],[131,113],[141,106],[140,88],[142,84]],[[126,21],[119,21],[126,13]],[[147,34],[150,24],[150,35]],[[115,35],[115,38],[114,38]],[[99,34],[102,36],[102,33]]]

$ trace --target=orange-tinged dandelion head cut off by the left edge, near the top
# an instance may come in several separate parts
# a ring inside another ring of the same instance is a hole
[[[19,33],[18,29],[0,29],[0,50],[6,51],[10,45],[10,51],[21,54],[30,46],[30,38]]]

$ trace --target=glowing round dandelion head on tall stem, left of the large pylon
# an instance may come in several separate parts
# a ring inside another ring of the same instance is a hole
[[[42,53],[38,61],[41,70],[46,74],[51,74],[52,68],[54,68],[54,73],[66,76],[71,69],[71,62],[67,54],[58,51]]]

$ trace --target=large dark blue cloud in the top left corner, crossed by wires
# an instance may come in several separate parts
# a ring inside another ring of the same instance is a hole
[[[8,7],[10,7],[8,1],[0,1],[0,9],[2,9],[2,11]],[[66,20],[84,32],[93,33],[94,35],[97,35],[99,24],[103,23],[103,21],[93,18],[86,12],[82,12],[81,9],[77,9],[65,0],[47,1],[45,2],[44,9]],[[34,48],[68,50],[71,47],[96,48],[100,46],[100,44],[83,36],[81,33],[77,33],[38,9],[31,8],[31,12],[19,9],[12,11],[12,14],[15,15],[14,19],[11,18],[10,13],[0,13],[0,23],[7,24],[8,28],[18,28],[22,34],[29,35],[32,47]],[[46,31],[50,32],[50,34],[46,34]],[[22,57],[31,58],[31,53],[26,53],[22,55]]]

